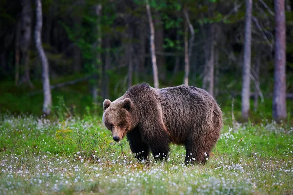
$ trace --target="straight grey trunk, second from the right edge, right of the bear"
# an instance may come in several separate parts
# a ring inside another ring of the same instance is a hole
[[[242,79],[242,118],[248,120],[250,109],[250,68],[251,68],[251,19],[252,19],[252,0],[246,0],[245,16],[245,40],[243,55],[243,79]]]

